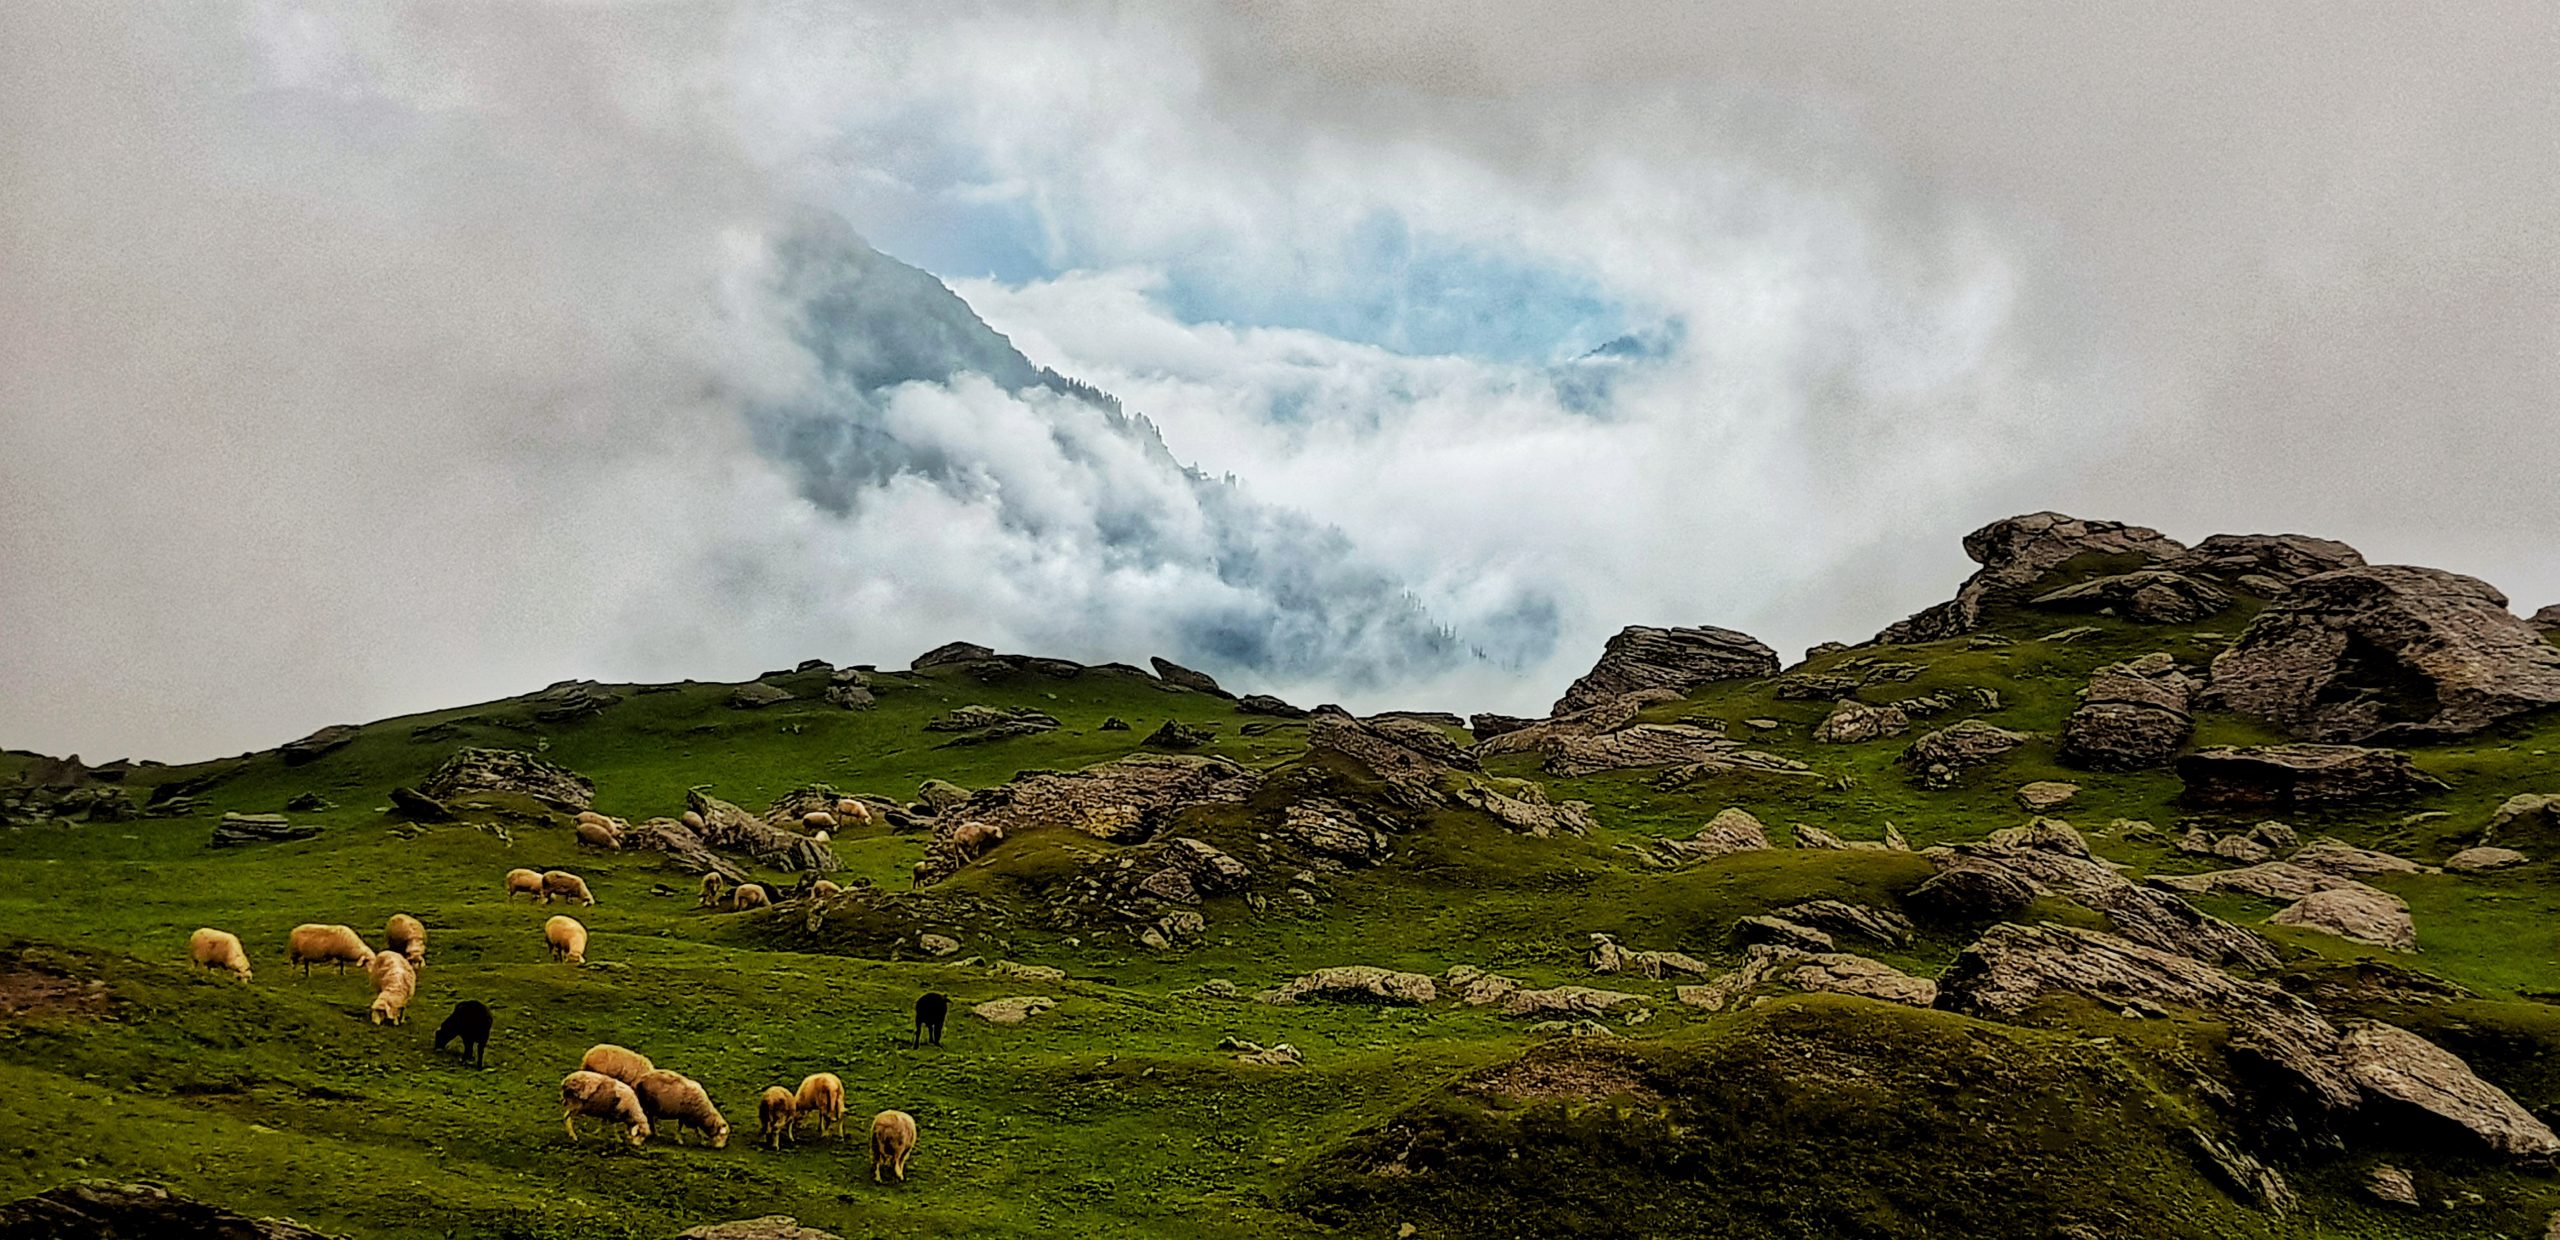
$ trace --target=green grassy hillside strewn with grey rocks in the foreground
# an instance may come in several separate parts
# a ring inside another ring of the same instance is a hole
[[[2304,535],[1964,546],[1869,643],[1628,628],[1533,720],[950,643],[8,753],[0,1235],[2560,1235],[2560,607]],[[594,886],[584,966],[517,866]],[[392,912],[410,1025],[287,971]],[[742,1130],[835,1071],[914,1179],[571,1145],[591,1043]]]

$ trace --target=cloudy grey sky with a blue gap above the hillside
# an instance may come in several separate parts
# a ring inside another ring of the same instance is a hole
[[[901,392],[975,489],[837,507],[758,443],[812,208],[1487,651],[1249,689],[1792,656],[2038,507],[2532,610],[2552,64],[2540,3],[0,5],[0,746],[1178,653],[1219,574],[1085,535],[1162,479],[1055,407]]]

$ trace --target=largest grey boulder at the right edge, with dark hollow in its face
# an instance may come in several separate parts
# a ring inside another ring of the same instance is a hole
[[[2455,738],[2560,705],[2560,648],[2481,579],[2337,569],[2250,620],[2209,702],[2309,740]]]

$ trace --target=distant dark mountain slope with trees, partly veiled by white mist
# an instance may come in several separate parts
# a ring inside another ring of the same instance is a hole
[[[799,218],[768,279],[804,371],[748,418],[812,505],[852,518],[932,487],[1009,541],[1157,579],[1170,653],[1216,671],[1370,687],[1472,658],[1341,530],[1180,464],[1149,420],[1034,366],[842,220]]]

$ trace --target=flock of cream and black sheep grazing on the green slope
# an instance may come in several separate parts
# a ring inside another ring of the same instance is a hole
[[[860,802],[847,804],[860,810]],[[835,822],[829,820],[827,825]],[[614,828],[617,825],[604,815],[581,812],[576,835],[579,843],[620,848],[620,830]],[[835,884],[819,881],[819,889],[827,886]],[[709,874],[701,892],[704,907],[717,904],[719,876]],[[507,899],[512,902],[517,894],[530,894],[540,904],[571,899],[591,907],[596,902],[594,892],[586,889],[586,879],[558,869],[507,871]],[[735,907],[758,907],[765,902],[768,897],[763,886],[737,886]],[[550,943],[553,961],[586,963],[586,925],[576,917],[550,917],[543,922],[543,938]],[[340,976],[346,976],[346,966],[364,968],[366,979],[374,984],[374,1025],[404,1025],[410,999],[417,997],[417,971],[428,963],[428,927],[407,912],[394,912],[384,925],[384,940],[389,948],[374,950],[353,927],[305,922],[287,935],[287,961],[292,968],[302,968],[305,979],[315,963],[338,966]],[[200,927],[189,935],[187,948],[197,966],[228,971],[243,984],[251,976],[248,950],[241,948],[241,938],[228,930],[215,930],[210,925]],[[945,1007],[947,999],[940,994],[927,994],[916,1004],[919,1038],[929,1025],[934,1045],[942,1043]],[[463,999],[456,1004],[453,1015],[445,1017],[443,1027],[435,1030],[435,1048],[443,1050],[445,1043],[461,1040],[463,1056],[474,1063],[486,1063],[489,1027],[489,1007],[476,999]],[[758,1145],[778,1150],[783,1143],[796,1138],[799,1122],[809,1117],[817,1120],[819,1138],[827,1138],[845,1122],[845,1081],[822,1071],[801,1079],[799,1089],[771,1086],[758,1099],[755,1112],[760,1125]],[[714,1150],[727,1148],[730,1143],[730,1122],[722,1120],[709,1091],[701,1089],[701,1081],[678,1071],[658,1068],[648,1061],[648,1056],[612,1043],[589,1048],[586,1058],[579,1061],[579,1071],[561,1079],[561,1127],[568,1130],[568,1140],[579,1140],[581,1114],[609,1125],[625,1125],[625,1140],[632,1145],[648,1143],[653,1125],[668,1122],[676,1125],[676,1143],[684,1143],[686,1127],[699,1130]],[[911,1114],[881,1112],[870,1117],[873,1184],[881,1184],[883,1173],[904,1184],[906,1155],[914,1153],[914,1148],[916,1120]]]

